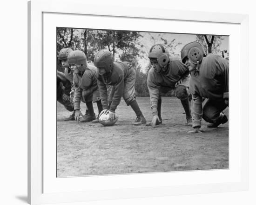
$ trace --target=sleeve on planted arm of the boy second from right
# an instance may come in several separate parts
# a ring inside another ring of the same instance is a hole
[[[154,72],[150,71],[148,72],[148,91],[149,91],[149,96],[150,96],[150,107],[152,110],[152,115],[157,115],[158,111],[157,111],[157,102],[159,99],[159,95],[160,95],[160,86],[156,85],[155,82],[155,76],[154,76]]]

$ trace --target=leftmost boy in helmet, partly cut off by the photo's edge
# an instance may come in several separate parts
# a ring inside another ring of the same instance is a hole
[[[74,102],[72,96],[72,90],[74,90],[72,83],[72,70],[67,64],[67,56],[73,51],[71,48],[62,48],[59,52],[58,59],[61,61],[61,65],[65,68],[64,73],[57,70],[57,101],[64,105],[68,111],[73,111],[66,120],[74,120]]]

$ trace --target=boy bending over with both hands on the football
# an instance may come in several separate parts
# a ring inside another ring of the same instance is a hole
[[[94,58],[97,67],[97,82],[103,106],[102,113],[109,113],[110,120],[115,119],[115,109],[123,97],[127,105],[135,111],[134,125],[146,123],[141,109],[135,99],[136,73],[127,62],[114,62],[113,54],[107,50],[98,51]],[[108,96],[107,87],[111,85]]]

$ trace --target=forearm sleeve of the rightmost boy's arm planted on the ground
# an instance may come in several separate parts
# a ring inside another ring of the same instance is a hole
[[[202,97],[193,94],[193,125],[192,127],[199,127],[201,128],[201,121],[202,121]]]

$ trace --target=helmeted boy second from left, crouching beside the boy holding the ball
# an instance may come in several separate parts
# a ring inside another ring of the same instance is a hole
[[[98,90],[96,70],[97,68],[91,64],[87,64],[87,58],[83,51],[72,51],[67,62],[71,70],[74,72],[74,119],[76,122],[99,122],[99,115],[96,118],[93,108],[93,102],[97,103],[99,114],[102,111],[101,98]],[[85,102],[88,115],[82,115],[80,111],[80,103]]]

